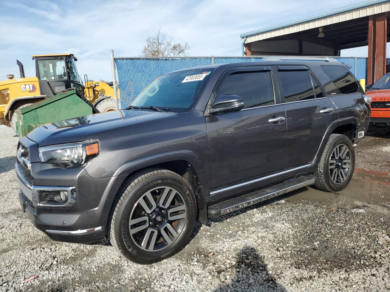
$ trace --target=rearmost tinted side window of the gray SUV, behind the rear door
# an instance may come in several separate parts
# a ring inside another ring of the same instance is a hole
[[[321,69],[328,75],[329,79],[335,84],[336,90],[328,91],[328,94],[338,93],[347,94],[358,91],[359,86],[355,77],[344,66],[321,66]]]

